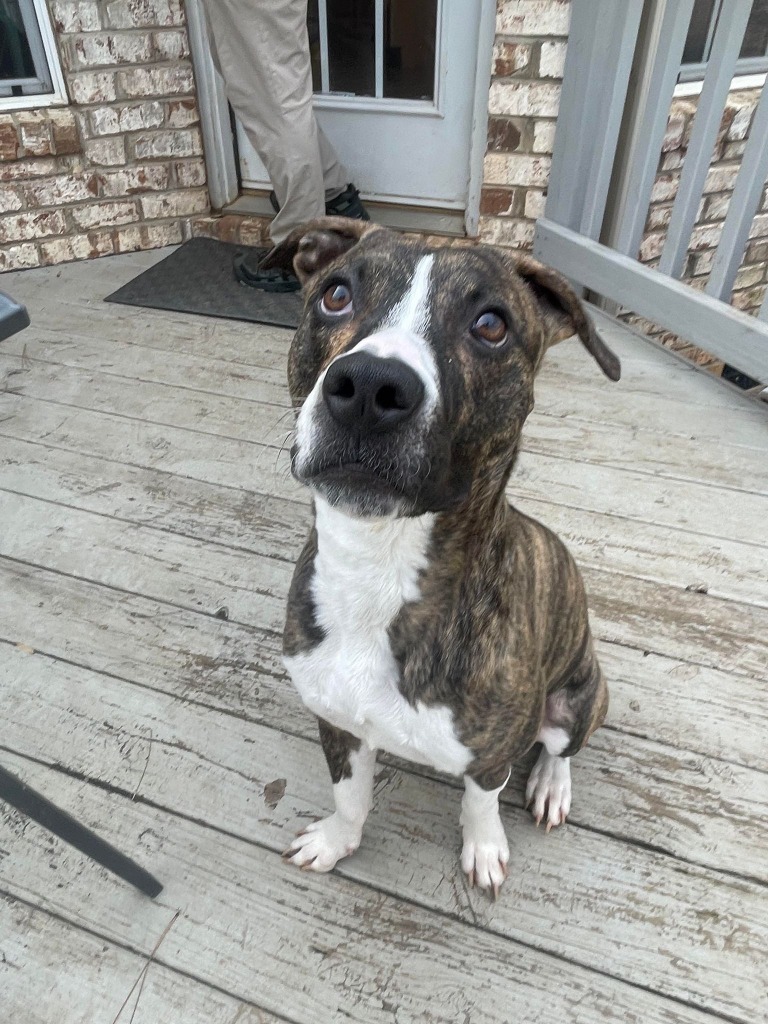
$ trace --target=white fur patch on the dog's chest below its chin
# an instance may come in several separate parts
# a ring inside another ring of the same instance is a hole
[[[315,715],[370,746],[463,774],[471,752],[449,708],[409,703],[397,683],[388,627],[419,599],[431,516],[372,523],[316,502],[318,551],[312,594],[325,639],[286,658],[294,685]]]

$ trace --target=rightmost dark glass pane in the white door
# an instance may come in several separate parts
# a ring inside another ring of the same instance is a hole
[[[388,0],[384,6],[384,95],[434,98],[437,0]]]

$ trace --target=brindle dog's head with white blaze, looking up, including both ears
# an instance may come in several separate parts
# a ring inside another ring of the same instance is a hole
[[[289,357],[293,473],[351,514],[419,515],[503,487],[556,341],[577,334],[618,379],[570,286],[526,255],[328,217],[263,265],[291,261],[305,294]]]

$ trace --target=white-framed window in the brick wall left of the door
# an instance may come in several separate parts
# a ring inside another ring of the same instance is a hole
[[[45,0],[0,0],[0,110],[67,102]]]

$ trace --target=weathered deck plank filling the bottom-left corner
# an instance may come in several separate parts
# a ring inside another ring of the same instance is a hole
[[[11,855],[9,837],[3,853]],[[71,864],[57,853],[62,870]],[[168,920],[172,911],[168,911]],[[157,938],[160,938],[159,933]],[[110,1024],[146,957],[0,894],[0,989],[14,1024]],[[134,1013],[135,1009],[135,1013]],[[118,1024],[279,1024],[285,1020],[153,963]]]

